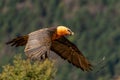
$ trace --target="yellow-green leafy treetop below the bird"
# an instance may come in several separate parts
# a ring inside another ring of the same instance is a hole
[[[52,80],[55,72],[54,63],[48,59],[43,62],[31,62],[17,55],[13,60],[13,65],[3,66],[0,80]]]

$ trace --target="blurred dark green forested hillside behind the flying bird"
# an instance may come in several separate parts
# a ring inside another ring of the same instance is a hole
[[[55,80],[120,80],[120,0],[0,0],[0,67],[24,56],[6,41],[56,25],[75,32],[69,40],[94,67],[82,72],[61,60]]]

